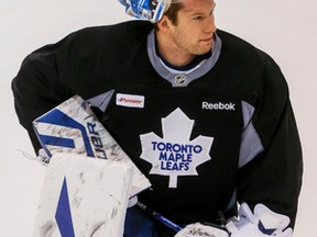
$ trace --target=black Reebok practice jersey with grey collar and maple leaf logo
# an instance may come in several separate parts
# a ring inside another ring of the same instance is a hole
[[[157,57],[152,27],[85,29],[26,57],[12,89],[35,151],[32,121],[78,94],[150,179],[139,199],[156,212],[189,224],[263,203],[293,226],[302,151],[278,66],[218,30],[209,58],[174,70]]]

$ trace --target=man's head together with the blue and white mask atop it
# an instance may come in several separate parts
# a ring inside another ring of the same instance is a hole
[[[155,23],[157,48],[164,59],[184,66],[212,47],[214,0],[119,0],[125,12]]]

